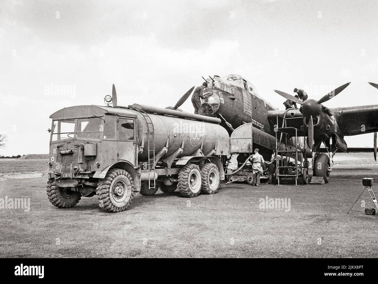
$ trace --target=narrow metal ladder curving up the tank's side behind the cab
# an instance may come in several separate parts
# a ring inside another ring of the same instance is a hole
[[[144,110],[135,107],[129,108],[138,111],[147,123],[148,188],[155,188],[155,131],[153,123],[150,116]]]

